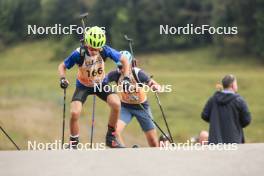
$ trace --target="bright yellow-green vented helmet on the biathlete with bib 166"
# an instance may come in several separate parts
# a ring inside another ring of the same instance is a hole
[[[85,32],[84,43],[92,48],[102,48],[105,41],[105,32],[98,26],[93,26]]]

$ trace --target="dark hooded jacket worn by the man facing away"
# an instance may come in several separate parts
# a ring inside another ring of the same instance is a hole
[[[202,119],[209,122],[209,143],[244,143],[242,128],[251,116],[239,94],[216,92],[206,103]]]

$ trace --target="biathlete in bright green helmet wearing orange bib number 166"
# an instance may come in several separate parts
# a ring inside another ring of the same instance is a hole
[[[105,60],[110,58],[115,63],[121,63],[124,68],[124,85],[130,84],[129,63],[124,55],[106,45],[105,31],[100,27],[91,27],[85,32],[84,47],[74,50],[58,67],[60,86],[63,89],[68,87],[66,70],[74,65],[78,66],[76,89],[71,101],[70,118],[70,146],[76,148],[79,142],[79,117],[83,104],[88,95],[95,94],[105,101],[110,109],[108,131],[106,134],[106,145],[111,148],[123,147],[116,137],[116,126],[120,116],[120,99],[113,92],[96,91],[95,86],[102,83],[105,77]]]

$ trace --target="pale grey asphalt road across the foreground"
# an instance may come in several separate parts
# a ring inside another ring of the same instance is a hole
[[[264,144],[238,145],[234,151],[131,148],[0,152],[1,176],[263,174]]]

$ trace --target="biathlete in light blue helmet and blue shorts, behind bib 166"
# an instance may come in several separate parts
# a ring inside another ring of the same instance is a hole
[[[135,91],[121,91],[119,93],[121,99],[121,115],[117,122],[117,136],[120,142],[124,145],[124,140],[121,136],[123,129],[131,122],[133,117],[136,117],[142,130],[145,133],[149,146],[158,147],[158,137],[155,129],[155,125],[150,118],[152,113],[149,103],[147,101],[146,92],[143,90],[143,86],[149,86],[152,90],[159,91],[160,85],[151,79],[142,69],[138,67],[132,67],[132,55],[128,51],[120,52],[124,58],[128,59],[130,64],[129,78],[131,80],[131,86],[137,87]],[[118,69],[111,71],[105,78],[105,83],[115,82],[117,85],[122,85],[122,81],[125,77],[125,69],[123,65],[118,62]],[[141,104],[141,105],[140,105]],[[145,110],[143,110],[144,108]]]

